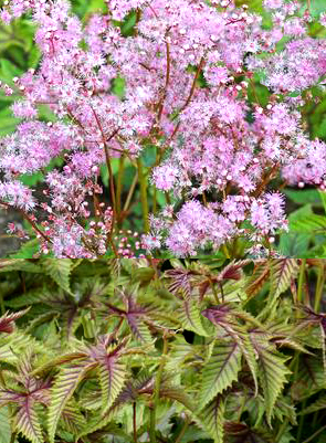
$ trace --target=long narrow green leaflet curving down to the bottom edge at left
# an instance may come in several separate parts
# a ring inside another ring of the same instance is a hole
[[[48,432],[50,442],[54,443],[55,429],[59,419],[73,395],[78,383],[94,368],[94,362],[76,362],[64,368],[59,373],[51,392],[51,403],[48,414]]]

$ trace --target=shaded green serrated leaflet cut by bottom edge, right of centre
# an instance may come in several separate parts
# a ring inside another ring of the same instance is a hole
[[[212,401],[210,401],[204,410],[201,411],[199,416],[199,425],[210,434],[210,436],[214,440],[214,443],[223,443],[224,412],[224,398],[219,394]]]

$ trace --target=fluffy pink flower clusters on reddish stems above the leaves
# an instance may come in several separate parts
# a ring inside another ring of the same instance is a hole
[[[65,0],[4,1],[7,23],[32,14],[42,59],[2,84],[21,97],[21,123],[1,139],[0,202],[21,211],[40,254],[231,256],[239,238],[245,253],[277,254],[287,229],[278,188],[325,188],[326,146],[301,110],[323,88],[326,42],[309,35],[308,7],[263,4],[267,22],[233,0],[107,0],[82,23]],[[126,164],[135,173],[124,196]],[[42,198],[20,181],[36,171]],[[119,230],[135,192],[144,235],[134,246]]]

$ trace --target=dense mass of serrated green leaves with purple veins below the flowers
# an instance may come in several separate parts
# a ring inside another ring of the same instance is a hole
[[[0,442],[325,442],[325,268],[2,260]]]

